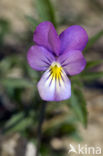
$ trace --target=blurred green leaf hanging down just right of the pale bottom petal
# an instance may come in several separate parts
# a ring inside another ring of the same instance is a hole
[[[84,96],[79,89],[72,89],[70,98],[70,107],[74,111],[79,121],[86,127],[87,126],[87,109]]]

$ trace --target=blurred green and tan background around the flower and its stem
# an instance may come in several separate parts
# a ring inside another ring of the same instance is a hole
[[[30,69],[26,54],[46,20],[59,34],[83,26],[89,42],[86,69],[71,77],[72,97],[47,103],[40,156],[74,156],[69,144],[103,150],[103,0],[0,0],[0,156],[35,156],[42,73]]]

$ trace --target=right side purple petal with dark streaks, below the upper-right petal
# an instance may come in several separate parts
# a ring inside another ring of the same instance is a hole
[[[86,66],[86,60],[79,50],[70,50],[58,58],[64,71],[69,75],[79,74]]]

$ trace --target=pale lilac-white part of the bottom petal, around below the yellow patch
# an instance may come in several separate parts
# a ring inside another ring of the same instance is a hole
[[[45,101],[62,101],[71,96],[71,83],[64,71],[62,72],[62,79],[58,81],[50,76],[50,70],[47,70],[37,87],[40,97]]]

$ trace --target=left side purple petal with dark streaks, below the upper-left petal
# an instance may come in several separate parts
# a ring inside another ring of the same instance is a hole
[[[32,46],[28,51],[27,60],[31,68],[44,71],[55,58],[47,49],[40,46]]]

